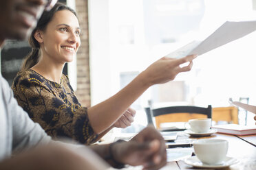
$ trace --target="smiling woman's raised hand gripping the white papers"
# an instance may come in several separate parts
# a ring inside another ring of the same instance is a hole
[[[196,55],[186,56],[180,59],[163,57],[153,62],[140,76],[142,76],[144,81],[149,83],[149,86],[169,82],[174,80],[178,73],[190,71],[193,65],[192,60],[196,57]],[[186,62],[189,62],[187,66],[180,66],[180,64]]]

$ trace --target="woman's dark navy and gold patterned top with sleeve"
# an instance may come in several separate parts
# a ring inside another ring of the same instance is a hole
[[[89,123],[87,108],[79,104],[67,75],[63,74],[58,84],[36,71],[19,72],[12,90],[18,104],[53,138],[67,137],[85,144],[98,138]]]

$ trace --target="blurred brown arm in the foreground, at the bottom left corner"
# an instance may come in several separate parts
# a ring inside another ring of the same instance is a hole
[[[91,149],[75,150],[61,143],[41,145],[0,162],[0,169],[8,170],[101,170],[108,167]]]

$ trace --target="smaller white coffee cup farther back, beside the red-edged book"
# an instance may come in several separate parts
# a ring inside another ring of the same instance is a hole
[[[195,133],[206,133],[211,128],[211,119],[190,119],[189,126],[191,131]]]

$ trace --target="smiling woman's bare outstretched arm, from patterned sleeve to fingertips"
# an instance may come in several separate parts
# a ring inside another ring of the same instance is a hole
[[[195,56],[186,56],[180,59],[161,58],[140,73],[125,88],[122,88],[122,90],[116,93],[116,95],[96,106],[88,108],[89,121],[94,131],[101,133],[110,127],[153,84],[169,82],[178,73],[190,71],[194,58]],[[190,62],[188,66],[180,67],[180,64],[186,62]]]

